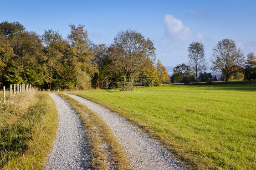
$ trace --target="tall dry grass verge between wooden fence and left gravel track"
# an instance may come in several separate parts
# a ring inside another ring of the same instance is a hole
[[[47,93],[23,92],[1,103],[0,169],[43,169],[57,126],[54,101]]]

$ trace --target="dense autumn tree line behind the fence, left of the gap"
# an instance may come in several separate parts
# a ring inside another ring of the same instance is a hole
[[[99,88],[109,76],[153,77],[155,85],[168,81],[154,43],[135,30],[121,30],[113,44],[96,45],[84,25],[70,24],[63,39],[58,31],[43,35],[27,31],[19,22],[0,23],[1,85],[32,84],[48,89]]]

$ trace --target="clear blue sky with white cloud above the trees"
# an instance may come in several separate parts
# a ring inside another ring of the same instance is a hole
[[[70,23],[82,24],[94,43],[110,45],[119,30],[137,30],[154,41],[157,58],[165,66],[188,63],[187,48],[193,41],[203,42],[208,59],[225,38],[235,40],[245,55],[256,53],[255,0],[0,0],[0,4],[0,21],[18,21],[40,35],[52,29],[66,38]]]

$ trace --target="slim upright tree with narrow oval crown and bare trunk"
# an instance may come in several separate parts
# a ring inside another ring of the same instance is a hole
[[[195,80],[197,83],[198,73],[206,70],[205,47],[201,42],[192,42],[188,47],[189,65],[195,72]]]

